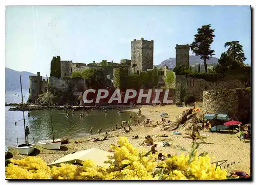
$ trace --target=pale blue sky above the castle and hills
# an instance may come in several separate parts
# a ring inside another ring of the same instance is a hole
[[[225,42],[240,41],[250,64],[249,6],[7,6],[6,67],[45,76],[53,56],[120,63],[142,37],[154,40],[157,65],[176,57],[176,44],[191,44],[206,24],[215,29],[214,57],[226,51]]]

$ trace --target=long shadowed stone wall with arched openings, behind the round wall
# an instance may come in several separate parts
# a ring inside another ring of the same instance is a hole
[[[186,77],[186,75],[176,75],[176,100],[180,96],[181,101],[187,95],[194,95],[197,101],[203,100],[203,91],[218,89],[245,88],[245,84],[231,77],[220,78],[216,82],[207,82],[202,78]]]

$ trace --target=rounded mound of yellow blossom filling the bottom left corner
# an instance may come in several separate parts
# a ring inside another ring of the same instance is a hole
[[[50,168],[39,157],[28,156],[21,160],[10,160],[5,167],[6,178],[14,179],[49,179]]]

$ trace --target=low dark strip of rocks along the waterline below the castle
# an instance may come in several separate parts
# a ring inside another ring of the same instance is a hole
[[[12,104],[12,105],[10,105]],[[21,103],[10,103],[7,106],[17,106],[14,108],[10,108],[9,111],[23,111],[23,107]],[[77,105],[67,105],[67,106],[60,106],[60,105],[52,105],[51,109],[54,110],[118,110],[118,109],[130,109],[132,106],[77,106]],[[24,111],[40,111],[40,110],[48,110],[50,109],[49,106],[43,106],[43,105],[28,105],[25,104]]]

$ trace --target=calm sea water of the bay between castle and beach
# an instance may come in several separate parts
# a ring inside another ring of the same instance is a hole
[[[16,95],[15,95],[16,94]],[[21,102],[21,96],[18,93],[6,93],[7,103]],[[19,93],[20,95],[20,93]],[[27,101],[28,93],[24,93],[24,101]],[[10,107],[6,107],[6,146],[16,146],[17,138],[18,143],[21,144],[25,141],[24,136],[24,122],[22,111],[8,111]],[[75,111],[74,115],[69,111],[70,117],[66,117],[66,112],[63,110],[52,110],[52,121],[54,129],[54,138],[77,138],[90,134],[90,129],[93,127],[93,134],[98,132],[102,127],[102,132],[110,131],[112,126],[118,124],[120,126],[123,120],[129,121],[129,114],[133,116],[136,113],[123,112],[118,113],[117,110],[108,110],[105,114],[103,110],[89,111],[89,114],[84,113],[84,117],[79,117],[81,111]],[[30,117],[28,117],[30,113]],[[137,116],[136,116],[137,117]],[[141,118],[143,119],[143,118]],[[29,141],[52,139],[52,127],[50,110],[45,111],[25,111],[26,125],[30,128]],[[17,122],[17,125],[15,125]],[[32,137],[33,136],[33,137]]]

